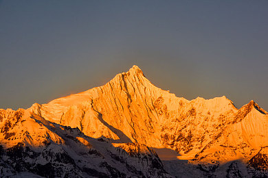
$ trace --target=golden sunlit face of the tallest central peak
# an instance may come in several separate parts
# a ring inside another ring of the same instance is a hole
[[[174,136],[179,135],[179,131],[194,129],[199,134],[193,140],[198,142],[206,131],[211,133],[212,130],[206,129],[208,125],[213,129],[214,136],[217,131],[212,127],[233,122],[237,109],[225,97],[210,100],[197,98],[193,101],[175,97],[175,94],[155,87],[137,66],[133,66],[129,72],[116,75],[104,86],[45,105],[35,104],[30,110],[60,125],[78,127],[94,138],[105,136],[157,148],[175,141],[170,147],[188,153],[196,148],[181,148],[179,143],[187,140],[178,143],[176,140],[180,138],[170,138],[169,133]],[[189,122],[194,125],[189,125]],[[202,123],[205,124],[203,127]],[[204,138],[205,142],[210,142],[210,138]]]

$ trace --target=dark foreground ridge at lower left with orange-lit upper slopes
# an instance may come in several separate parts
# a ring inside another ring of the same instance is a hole
[[[27,110],[1,110],[1,119],[1,177],[171,177],[143,144],[90,138]]]

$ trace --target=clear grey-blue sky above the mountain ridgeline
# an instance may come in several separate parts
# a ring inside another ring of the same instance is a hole
[[[268,110],[268,1],[0,1],[0,108],[101,86],[133,64],[177,97]]]

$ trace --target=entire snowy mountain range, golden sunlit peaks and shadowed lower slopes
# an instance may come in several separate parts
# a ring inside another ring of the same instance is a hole
[[[254,101],[238,109],[226,97],[176,97],[137,66],[104,86],[1,110],[0,127],[1,175],[268,176],[265,110]]]

